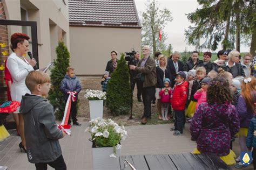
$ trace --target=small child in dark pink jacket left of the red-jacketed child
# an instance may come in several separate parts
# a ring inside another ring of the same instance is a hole
[[[171,96],[171,88],[170,88],[171,81],[168,78],[164,79],[164,87],[159,91],[160,101],[161,101],[161,114],[163,121],[169,121],[169,118],[167,118],[168,115],[168,109],[169,109],[169,101]]]

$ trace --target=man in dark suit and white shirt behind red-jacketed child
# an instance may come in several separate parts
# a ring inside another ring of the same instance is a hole
[[[183,72],[183,63],[179,61],[180,53],[178,51],[174,51],[172,54],[172,58],[167,62],[167,69],[169,69],[169,73],[171,73],[171,87],[173,88],[175,84],[176,74],[178,72]]]

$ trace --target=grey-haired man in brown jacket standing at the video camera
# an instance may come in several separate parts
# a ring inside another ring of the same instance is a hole
[[[151,101],[154,97],[154,90],[156,88],[156,62],[150,57],[150,47],[143,47],[143,59],[141,59],[137,66],[130,65],[130,69],[136,73],[141,73],[143,80],[142,98],[144,104],[144,115],[142,124],[147,123],[147,118],[151,117]]]

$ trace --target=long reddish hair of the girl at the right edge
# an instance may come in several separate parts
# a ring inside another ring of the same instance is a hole
[[[246,103],[246,107],[247,109],[250,109],[251,111],[254,111],[254,103],[255,103],[255,85],[256,85],[256,81],[255,81],[255,77],[250,76],[251,77],[251,81],[245,83],[244,81],[242,82],[242,91],[241,91],[241,95],[242,97],[244,97],[245,99],[245,103]]]

